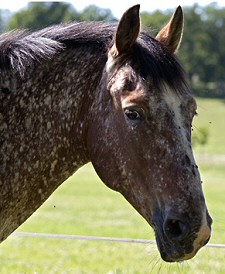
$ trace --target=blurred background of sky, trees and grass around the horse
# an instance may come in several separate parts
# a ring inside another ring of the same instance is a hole
[[[71,21],[116,22],[136,1],[0,4],[0,32]],[[138,1],[151,35],[181,5],[185,28],[178,58],[187,71],[198,115],[193,147],[214,219],[210,243],[225,244],[225,2]],[[153,239],[145,221],[109,190],[91,164],[67,180],[18,231]],[[203,248],[183,264],[165,264],[155,246],[11,236],[0,246],[0,273],[225,273],[225,249]]]

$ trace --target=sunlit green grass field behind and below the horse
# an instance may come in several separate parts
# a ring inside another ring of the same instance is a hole
[[[198,99],[194,130],[209,127],[209,141],[196,147],[209,211],[210,243],[225,243],[225,104]],[[152,229],[108,189],[89,164],[65,182],[18,231],[154,239]],[[128,244],[10,236],[0,246],[0,273],[225,273],[225,250],[203,248],[182,264],[161,261],[157,248]]]

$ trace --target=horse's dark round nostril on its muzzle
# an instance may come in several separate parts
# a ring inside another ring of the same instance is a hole
[[[163,228],[167,237],[177,240],[184,239],[190,231],[188,223],[178,219],[166,219]]]

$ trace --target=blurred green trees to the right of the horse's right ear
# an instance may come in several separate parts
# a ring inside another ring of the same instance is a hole
[[[225,8],[218,8],[215,3],[185,8],[185,31],[179,57],[198,95],[225,96],[224,18]],[[211,88],[212,83],[215,88]],[[198,85],[202,88],[198,89]]]

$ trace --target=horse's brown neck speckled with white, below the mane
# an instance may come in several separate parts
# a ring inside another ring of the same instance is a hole
[[[27,71],[24,80],[6,72],[1,78],[3,238],[16,228],[8,223],[21,224],[88,161],[85,130],[97,63],[85,49],[74,49]]]

